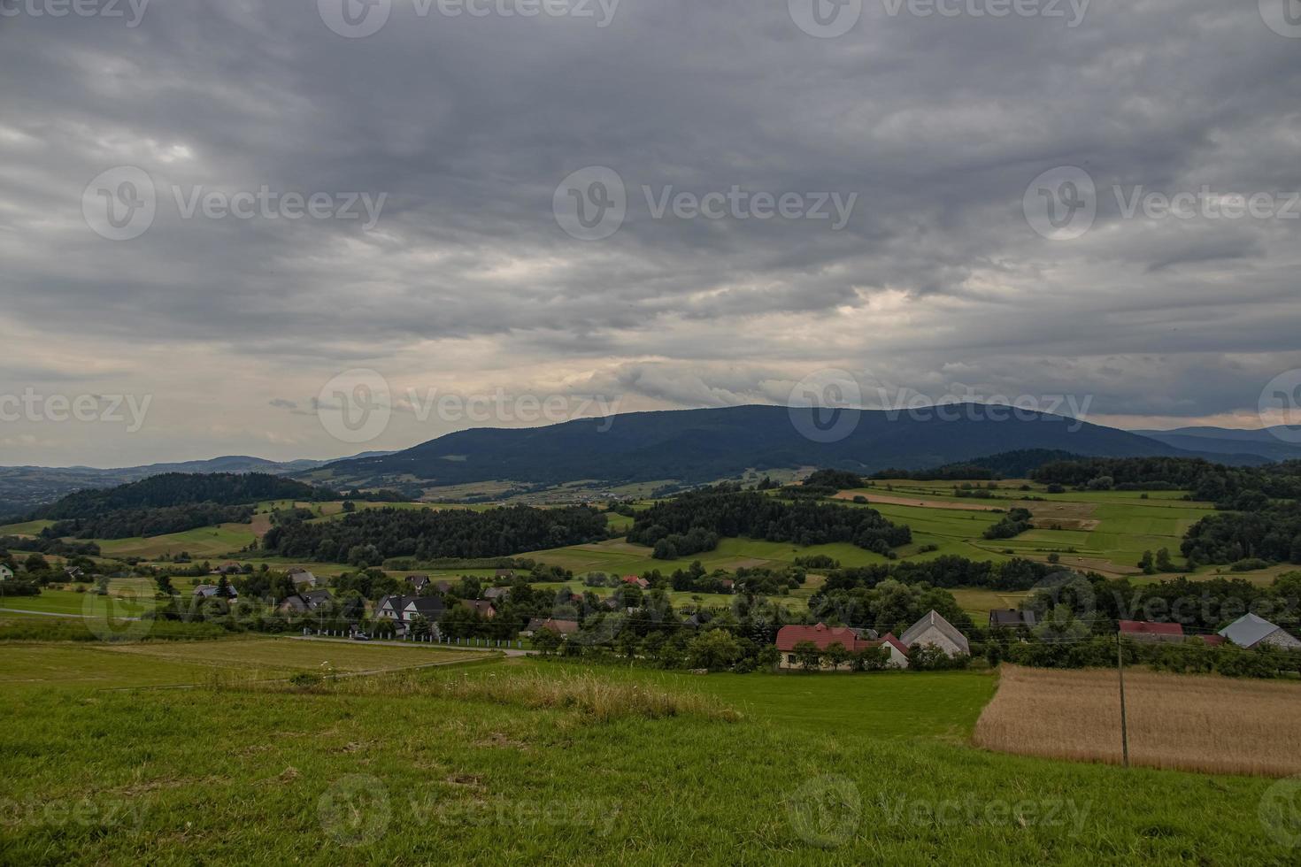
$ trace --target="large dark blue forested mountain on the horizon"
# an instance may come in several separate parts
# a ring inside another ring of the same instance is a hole
[[[548,428],[463,430],[393,455],[334,463],[325,472],[332,484],[367,486],[411,478],[425,485],[490,480],[531,485],[576,480],[700,484],[749,468],[826,467],[866,474],[1025,448],[1108,458],[1189,454],[1059,416],[1023,412],[994,421],[987,408],[959,412],[951,421],[928,412],[861,411],[843,438],[818,442],[825,437],[803,433],[812,429],[809,411],[800,413],[752,406],[635,412]]]

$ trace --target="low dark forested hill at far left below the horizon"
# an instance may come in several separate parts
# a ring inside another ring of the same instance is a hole
[[[38,510],[34,517],[48,520],[100,517],[120,510],[168,508],[212,503],[241,506],[259,500],[336,499],[324,487],[263,473],[165,473],[105,490],[83,490]]]

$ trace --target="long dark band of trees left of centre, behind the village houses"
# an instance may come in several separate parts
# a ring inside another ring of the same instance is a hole
[[[380,565],[389,558],[492,558],[606,538],[605,515],[585,506],[470,510],[376,508],[340,520],[272,526],[263,547],[280,556]]]

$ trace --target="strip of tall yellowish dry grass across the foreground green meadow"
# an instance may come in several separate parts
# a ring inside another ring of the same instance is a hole
[[[251,685],[251,684],[246,684]],[[232,684],[234,686],[234,684]],[[262,684],[273,692],[303,690],[294,684]],[[373,677],[327,680],[307,688],[314,693],[337,695],[435,697],[462,702],[513,705],[535,710],[578,711],[596,721],[624,716],[662,719],[695,715],[735,721],[740,714],[712,695],[692,690],[673,692],[644,682],[610,681],[591,673],[464,672],[427,673],[394,672]]]

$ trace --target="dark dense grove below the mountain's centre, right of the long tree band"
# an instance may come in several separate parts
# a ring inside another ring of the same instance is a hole
[[[907,526],[891,524],[870,508],[831,503],[788,503],[755,491],[719,486],[683,494],[639,512],[628,541],[656,547],[671,545],[677,555],[722,537],[745,537],[800,546],[851,542],[887,554],[912,541]],[[658,556],[658,552],[657,552]]]

